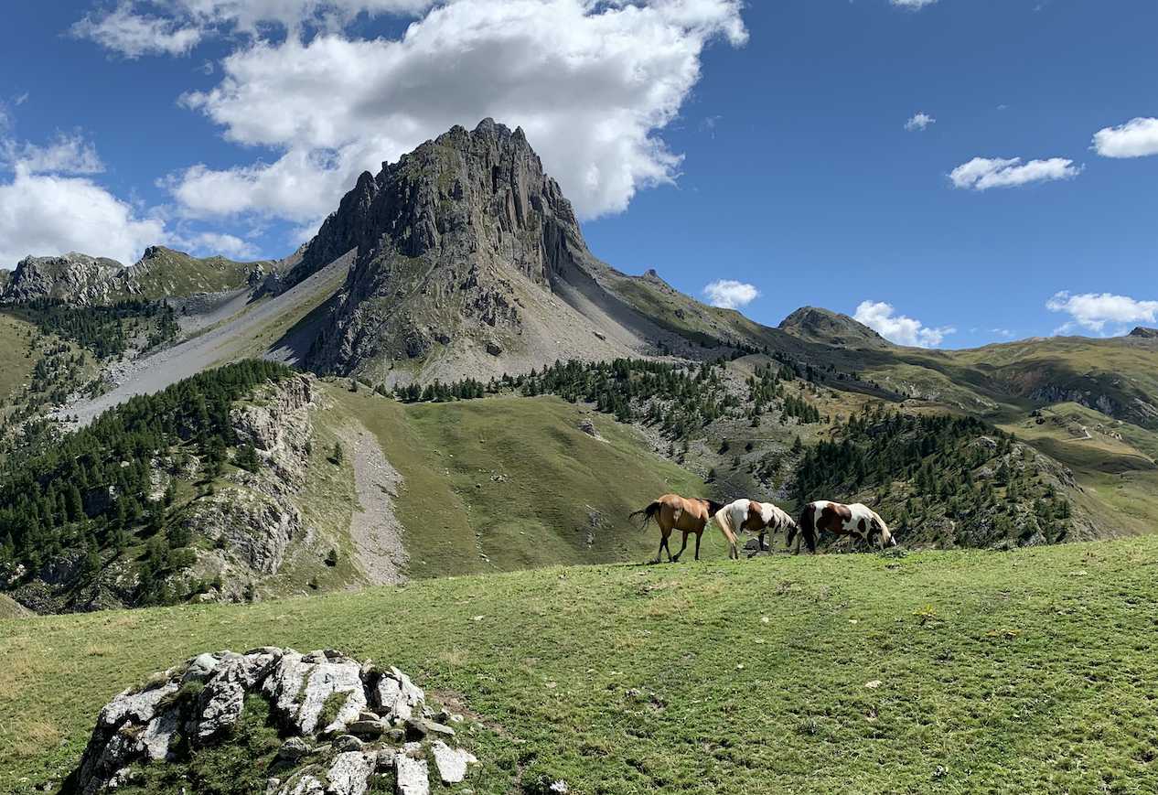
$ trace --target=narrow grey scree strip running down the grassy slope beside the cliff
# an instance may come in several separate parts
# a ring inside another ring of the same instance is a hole
[[[354,491],[361,510],[354,510],[350,535],[371,585],[404,583],[402,567],[410,559],[402,546],[402,524],[394,516],[394,501],[402,475],[382,455],[374,435],[364,428],[343,439],[352,453]]]

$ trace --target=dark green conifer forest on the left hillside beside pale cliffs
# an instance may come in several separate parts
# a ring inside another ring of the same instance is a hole
[[[173,488],[156,493],[153,467],[175,457],[199,461],[203,479],[221,474],[236,443],[234,401],[292,372],[264,360],[206,371],[131,399],[42,454],[10,455],[0,487],[0,566],[20,564],[31,574],[61,550],[80,549],[83,585],[102,564],[147,540],[137,598],[157,600],[161,577],[191,564],[193,554],[183,550],[188,530],[168,522]],[[251,446],[239,451],[236,464],[256,467]]]

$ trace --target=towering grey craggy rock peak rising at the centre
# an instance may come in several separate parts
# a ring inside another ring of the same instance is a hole
[[[604,290],[599,279],[629,277],[587,250],[522,130],[491,119],[362,174],[287,283],[352,250],[307,357],[315,372],[389,380],[390,362],[417,359],[427,380],[485,377],[637,355],[666,334]]]

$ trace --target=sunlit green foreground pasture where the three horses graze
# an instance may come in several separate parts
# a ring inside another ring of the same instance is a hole
[[[1152,793],[1156,566],[1146,538],[7,621],[0,790],[59,781],[101,706],[152,671],[285,644],[464,701],[496,730],[467,741],[477,793]]]

